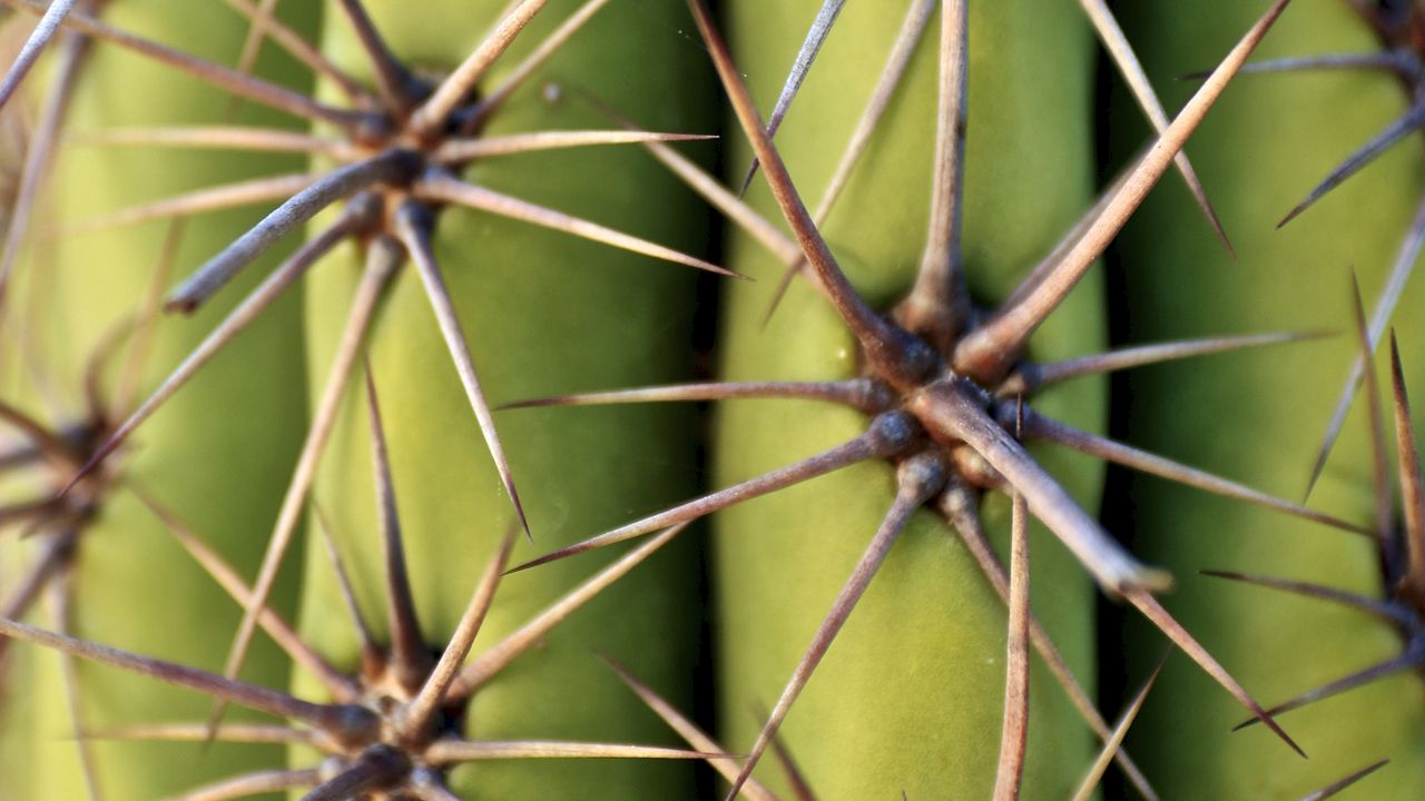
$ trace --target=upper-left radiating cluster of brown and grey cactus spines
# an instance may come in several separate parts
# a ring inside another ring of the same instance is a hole
[[[11,6],[26,11],[41,10],[41,7],[34,4],[13,3]],[[296,477],[289,486],[286,502],[284,503],[282,513],[278,517],[276,533],[274,537],[275,544],[269,547],[268,556],[264,559],[264,570],[258,577],[255,591],[247,600],[248,611],[242,626],[238,629],[238,640],[232,651],[229,651],[227,668],[227,674],[229,677],[237,674],[244,660],[251,634],[256,627],[256,621],[262,617],[261,610],[264,609],[265,601],[276,583],[276,567],[281,563],[281,554],[285,550],[286,543],[291,540],[291,536],[295,533],[296,520],[305,502],[308,485],[315,475],[323,440],[331,432],[332,416],[335,413],[336,403],[342,396],[343,376],[351,372],[351,365],[353,363],[361,345],[362,334],[365,328],[370,325],[370,319],[378,308],[378,301],[385,291],[383,286],[388,281],[390,281],[389,277],[405,257],[405,252],[415,254],[418,267],[422,267],[420,272],[428,279],[426,284],[430,289],[432,299],[436,304],[437,318],[442,319],[442,325],[446,328],[449,345],[457,359],[463,383],[470,393],[470,403],[475,406],[476,415],[480,418],[482,430],[492,448],[497,465],[500,466],[506,489],[509,490],[512,499],[514,499],[516,509],[523,517],[523,510],[519,506],[519,497],[514,495],[514,486],[509,477],[506,459],[502,453],[499,439],[494,436],[493,420],[490,419],[487,405],[480,393],[479,383],[475,379],[473,366],[463,342],[463,335],[460,334],[459,324],[455,322],[455,308],[447,299],[445,299],[445,288],[442,286],[439,274],[435,272],[437,268],[435,267],[435,259],[432,258],[433,251],[430,251],[426,244],[430,237],[429,222],[420,221],[420,211],[423,207],[445,205],[446,202],[465,204],[494,215],[503,215],[524,222],[533,222],[536,225],[567,231],[594,241],[610,242],[620,248],[628,248],[634,252],[653,255],[654,258],[681,261],[693,267],[725,272],[701,259],[684,257],[677,251],[653,245],[646,239],[621,234],[577,217],[556,212],[529,201],[503,195],[484,187],[467,185],[453,177],[450,170],[460,170],[473,160],[484,160],[497,155],[520,155],[550,148],[586,147],[591,144],[628,144],[646,141],[648,138],[693,138],[660,134],[633,135],[623,131],[551,131],[549,134],[524,137],[514,135],[507,137],[504,141],[490,141],[490,147],[482,147],[483,143],[469,138],[470,134],[477,133],[475,125],[476,121],[482,125],[492,123],[492,120],[496,123],[499,121],[493,114],[497,103],[493,101],[496,101],[496,98],[503,101],[503,98],[510,97],[513,88],[523,83],[534,68],[537,68],[550,56],[557,56],[556,51],[560,48],[561,43],[574,34],[577,29],[583,27],[583,24],[593,17],[594,11],[598,11],[604,6],[604,1],[594,0],[586,3],[583,7],[577,9],[576,13],[569,14],[567,21],[554,30],[540,48],[530,53],[524,63],[519,64],[517,68],[507,76],[503,86],[499,86],[480,103],[466,105],[463,98],[470,88],[470,81],[475,81],[480,73],[486,71],[493,64],[494,57],[503,53],[503,50],[514,41],[514,34],[520,33],[524,29],[524,24],[543,6],[544,3],[523,3],[513,9],[494,34],[473,50],[473,56],[470,56],[465,66],[457,70],[457,74],[439,84],[432,97],[426,98],[422,105],[418,105],[416,100],[419,100],[419,94],[426,91],[423,80],[410,78],[410,74],[408,74],[408,78],[410,80],[399,87],[392,86],[389,81],[378,81],[378,84],[380,84],[378,91],[379,95],[398,100],[398,103],[389,108],[389,115],[373,115],[359,110],[345,111],[339,107],[325,105],[282,86],[269,84],[261,78],[249,77],[242,71],[222,67],[217,61],[205,61],[158,44],[158,40],[135,36],[134,33],[127,31],[123,24],[110,26],[98,23],[83,13],[70,14],[64,20],[66,26],[76,29],[86,36],[93,36],[117,44],[120,48],[135,51],[141,56],[152,58],[157,63],[177,67],[178,71],[190,73],[202,81],[215,84],[218,88],[234,93],[237,97],[271,105],[298,117],[325,120],[335,124],[338,128],[348,131],[348,134],[353,137],[352,144],[355,148],[328,148],[325,151],[338,158],[348,158],[349,164],[346,167],[339,167],[333,172],[302,178],[301,184],[294,187],[301,190],[296,195],[284,202],[278,211],[268,215],[262,224],[237,238],[231,245],[221,248],[219,255],[215,259],[209,259],[209,262],[201,268],[192,279],[185,282],[170,301],[171,309],[185,312],[194,311],[217,289],[227,284],[247,262],[271,248],[285,232],[301,225],[305,219],[319,212],[325,205],[353,194],[356,197],[352,201],[351,211],[341,218],[335,227],[328,229],[323,235],[319,235],[314,242],[302,247],[281,269],[275,271],[272,277],[255,289],[254,294],[244,301],[197,351],[184,359],[180,368],[168,379],[165,379],[165,382],[152,393],[150,399],[140,405],[134,415],[120,423],[117,430],[114,430],[105,442],[90,453],[88,462],[83,465],[68,480],[68,486],[61,492],[61,499],[74,500],[74,496],[81,495],[78,487],[86,486],[86,482],[94,480],[94,476],[103,475],[105,472],[103,465],[107,463],[107,459],[135,430],[135,428],[158,410],[160,406],[168,403],[170,398],[174,396],[178,388],[184,386],[190,379],[198,375],[200,371],[204,371],[208,363],[217,358],[218,352],[228,346],[238,332],[248,328],[258,316],[262,316],[266,308],[274,304],[308,267],[321,258],[321,255],[332,249],[342,238],[369,235],[373,224],[373,212],[379,211],[379,207],[383,202],[388,208],[395,208],[395,204],[402,202],[399,195],[392,200],[390,192],[368,192],[363,190],[372,188],[375,184],[402,184],[409,187],[406,191],[409,191],[415,198],[412,201],[405,201],[402,207],[406,210],[403,212],[405,217],[398,214],[398,227],[392,231],[402,241],[398,244],[395,239],[386,238],[385,245],[373,248],[373,252],[385,252],[386,257],[383,259],[378,258],[373,262],[370,278],[366,282],[366,299],[358,302],[351,315],[349,335],[346,336],[348,346],[343,349],[343,356],[338,359],[331,371],[335,381],[329,381],[326,389],[323,391],[325,398],[328,399],[323,406],[326,412],[322,413],[319,409],[316,425],[308,436],[306,446],[302,449],[302,460],[299,462]],[[265,13],[248,3],[234,3],[234,7],[241,13],[252,16]],[[358,4],[346,3],[345,11],[348,11],[351,21],[361,29],[359,33],[363,38],[368,41],[373,40],[373,37],[379,38],[379,34],[375,34],[373,29],[363,27],[369,24],[369,17],[366,17],[365,10],[359,9]],[[546,14],[546,17],[549,14]],[[275,31],[274,38],[282,43],[284,47],[295,54],[301,61],[323,76],[335,77],[335,83],[352,100],[358,101],[358,108],[366,108],[362,101],[369,100],[370,95],[368,93],[362,93],[355,80],[343,80],[345,73],[335,68],[332,61],[323,57],[312,46],[305,46],[304,41],[308,41],[309,37],[304,38],[302,33],[285,27],[279,20],[266,19],[264,20],[264,24]],[[526,40],[529,40],[529,37],[526,37]],[[379,56],[389,54],[382,51]],[[402,71],[403,68],[396,66],[392,70]],[[392,70],[385,70],[383,74],[392,73]],[[452,94],[452,87],[459,87],[453,90],[455,94]],[[450,97],[460,98],[459,107],[449,107]],[[429,145],[429,167],[426,167],[428,160],[422,155],[426,153],[425,140],[418,143],[416,151],[406,147],[398,147],[395,150],[379,153],[382,147],[382,137],[399,134],[399,131],[390,130],[390,125],[393,124],[392,121],[395,118],[405,121],[408,113],[412,115],[412,128],[416,130],[420,137],[436,134],[437,131],[428,128],[430,127],[430,110],[436,110],[439,107],[443,107],[440,111],[442,115],[459,115],[459,118],[452,123],[452,130],[459,128],[460,135],[445,138],[442,131],[442,141]],[[422,115],[422,111],[426,114]],[[425,120],[425,123],[418,124],[420,120]],[[161,135],[145,135],[145,131],[147,130],[144,128],[138,128],[135,134],[131,128],[127,144],[161,144]],[[170,133],[170,141],[178,138],[191,143],[194,140],[192,133],[198,133],[197,138],[205,140],[205,144],[211,147],[227,147],[229,150],[288,151],[298,154],[314,151],[314,148],[309,147],[309,140],[294,144],[289,134],[276,128],[195,127],[180,133],[174,133],[172,128],[167,128],[167,131]],[[104,133],[91,138],[103,140]],[[124,137],[118,137],[120,141],[123,141],[123,138]],[[274,145],[274,141],[278,144]],[[284,180],[258,180],[249,181],[247,185],[234,185],[231,188],[205,188],[187,195],[175,195],[170,200],[113,212],[105,219],[91,217],[91,221],[86,224],[84,228],[104,231],[114,228],[115,225],[131,225],[144,219],[164,218],[175,214],[191,215],[209,210],[225,210],[259,201],[265,197],[279,197],[278,192],[291,191],[286,190],[286,184],[291,184],[291,181],[284,184]],[[416,211],[415,215],[410,214],[412,210]],[[73,225],[68,228],[70,235],[77,235],[80,232],[76,231]],[[288,341],[291,341],[291,338],[288,338]],[[201,382],[202,379],[198,381]],[[664,415],[664,418],[667,418],[667,415]]]

